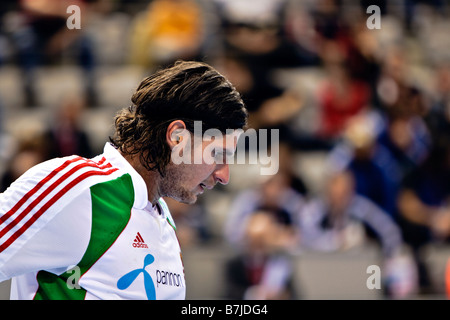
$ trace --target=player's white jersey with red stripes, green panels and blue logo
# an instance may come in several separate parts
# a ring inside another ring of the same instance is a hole
[[[11,299],[184,299],[175,224],[109,143],[41,163],[0,194],[0,282]]]

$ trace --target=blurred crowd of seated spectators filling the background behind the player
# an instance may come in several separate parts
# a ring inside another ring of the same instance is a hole
[[[197,204],[167,199],[188,298],[446,299],[449,5],[2,0],[0,192],[38,162],[101,153],[145,76],[205,61],[250,128],[279,130],[279,170],[235,164]]]

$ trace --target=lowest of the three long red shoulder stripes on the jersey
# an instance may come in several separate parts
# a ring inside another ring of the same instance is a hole
[[[76,177],[74,180],[69,182],[64,188],[62,188],[58,193],[55,194],[46,204],[44,204],[36,213],[24,223],[22,227],[20,227],[15,233],[11,235],[3,244],[0,245],[0,253],[8,248],[18,237],[20,237],[40,216],[44,214],[44,212],[50,208],[56,201],[58,201],[64,194],[66,194],[70,189],[72,189],[75,185],[80,183],[91,176],[104,176],[109,175],[115,171],[119,170],[118,168],[112,168],[108,171],[97,171],[91,170],[87,171],[80,176]],[[3,230],[2,230],[3,231]]]

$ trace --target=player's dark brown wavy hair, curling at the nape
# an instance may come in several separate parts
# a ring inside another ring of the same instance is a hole
[[[171,150],[168,125],[183,120],[193,132],[216,128],[242,129],[248,112],[240,94],[217,70],[203,62],[177,61],[142,80],[131,97],[133,104],[115,116],[111,143],[125,155],[138,155],[147,170],[164,175]]]

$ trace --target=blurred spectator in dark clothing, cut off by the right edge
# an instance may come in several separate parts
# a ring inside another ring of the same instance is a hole
[[[450,241],[450,147],[436,146],[404,179],[398,198],[401,226],[419,270],[422,293],[435,293],[423,248]]]

